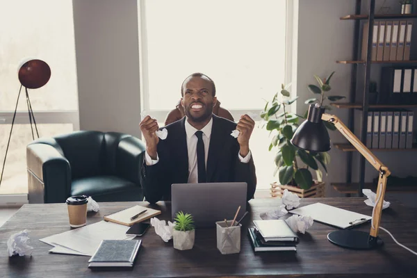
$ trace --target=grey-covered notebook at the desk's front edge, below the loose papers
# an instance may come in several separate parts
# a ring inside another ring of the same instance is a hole
[[[88,267],[133,266],[142,240],[101,240]]]

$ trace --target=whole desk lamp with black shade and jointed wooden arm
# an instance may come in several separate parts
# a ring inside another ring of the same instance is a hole
[[[381,222],[382,204],[386,189],[386,178],[391,174],[386,166],[373,155],[363,143],[354,136],[352,131],[334,115],[325,114],[325,108],[318,104],[311,104],[309,115],[295,131],[291,143],[300,149],[311,152],[328,152],[330,150],[329,133],[323,121],[332,122],[347,140],[366,158],[367,161],[379,172],[377,186],[376,204],[373,208],[370,233],[357,230],[332,231],[327,235],[327,239],[341,247],[368,250],[382,245],[382,240],[378,237],[379,222]]]

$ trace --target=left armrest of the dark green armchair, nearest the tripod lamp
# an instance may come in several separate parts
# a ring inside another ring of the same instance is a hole
[[[31,144],[26,147],[29,203],[62,203],[70,195],[70,163],[55,147]]]

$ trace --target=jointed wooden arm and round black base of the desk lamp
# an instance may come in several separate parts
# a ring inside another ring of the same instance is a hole
[[[386,178],[391,174],[388,167],[384,166],[381,161],[370,150],[363,145],[350,129],[334,115],[322,114],[322,120],[334,123],[334,126],[342,133],[347,140],[366,158],[375,169],[379,171],[377,193],[375,197],[375,207],[373,208],[370,233],[357,230],[340,230],[332,231],[327,235],[327,239],[335,245],[357,249],[369,250],[383,245],[381,238],[378,237],[379,222],[381,222],[382,205],[384,204],[384,195],[386,190]]]

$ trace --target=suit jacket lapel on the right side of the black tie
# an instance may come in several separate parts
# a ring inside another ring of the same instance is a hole
[[[213,115],[213,127],[211,128],[207,158],[207,182],[210,182],[213,178],[215,167],[222,151],[221,146],[224,145],[224,142],[222,142],[222,135],[224,135],[224,133],[222,133],[222,128],[219,124],[218,117]]]

